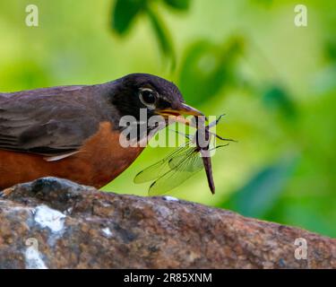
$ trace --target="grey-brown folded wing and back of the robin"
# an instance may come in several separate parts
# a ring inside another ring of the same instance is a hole
[[[102,120],[93,87],[0,93],[0,149],[48,156],[78,150]]]

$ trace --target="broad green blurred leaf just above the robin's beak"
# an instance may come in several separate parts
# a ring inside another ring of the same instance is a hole
[[[224,47],[208,41],[194,43],[186,52],[179,75],[179,87],[185,100],[199,104],[211,100],[225,83],[232,82],[242,41],[230,39]]]

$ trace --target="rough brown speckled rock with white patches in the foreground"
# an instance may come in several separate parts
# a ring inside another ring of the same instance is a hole
[[[168,196],[57,178],[5,193],[0,268],[336,268],[335,239]],[[298,238],[306,259],[295,257]]]

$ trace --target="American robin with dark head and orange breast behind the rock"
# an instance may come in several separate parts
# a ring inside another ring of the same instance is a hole
[[[140,109],[148,118],[202,115],[174,83],[151,74],[0,93],[0,190],[48,176],[105,186],[143,150],[119,142],[120,118],[138,119]]]

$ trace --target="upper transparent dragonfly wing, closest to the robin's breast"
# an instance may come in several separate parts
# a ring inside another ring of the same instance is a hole
[[[169,166],[169,161],[174,158],[180,158],[185,153],[190,150],[190,143],[186,143],[183,146],[180,146],[174,152],[168,154],[168,156],[161,161],[158,161],[152,164],[150,167],[140,171],[134,178],[134,183],[139,184],[147,181],[154,180],[156,178],[161,177],[169,170],[171,170],[171,166]]]

